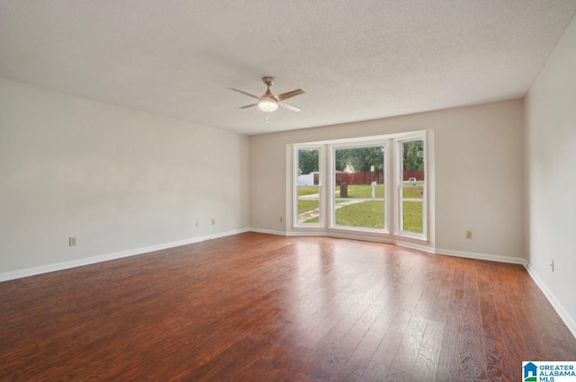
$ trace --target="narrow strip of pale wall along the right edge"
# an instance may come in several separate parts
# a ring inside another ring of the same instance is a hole
[[[528,262],[576,335],[576,20],[530,88],[526,120]]]

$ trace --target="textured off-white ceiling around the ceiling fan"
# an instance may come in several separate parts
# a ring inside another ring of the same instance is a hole
[[[0,76],[261,134],[523,96],[576,0],[0,0]],[[260,95],[302,88],[299,113]]]

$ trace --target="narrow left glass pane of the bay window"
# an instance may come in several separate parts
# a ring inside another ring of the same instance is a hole
[[[320,223],[320,149],[298,150],[296,179],[298,225]]]

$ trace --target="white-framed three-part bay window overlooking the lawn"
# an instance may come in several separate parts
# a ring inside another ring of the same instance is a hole
[[[294,145],[293,227],[427,240],[426,137],[420,131]]]

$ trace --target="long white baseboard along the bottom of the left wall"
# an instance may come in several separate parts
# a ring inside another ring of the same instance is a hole
[[[200,243],[200,242],[203,242],[205,240],[216,239],[219,237],[225,237],[225,236],[229,236],[229,235],[243,234],[243,233],[248,232],[248,231],[250,231],[249,228],[238,229],[238,230],[222,232],[222,233],[214,234],[214,235],[193,237],[190,239],[179,240],[179,241],[171,242],[171,243],[150,245],[150,246],[146,246],[146,247],[130,249],[127,251],[121,251],[121,252],[116,252],[116,253],[105,253],[105,254],[100,254],[97,256],[85,257],[83,259],[72,260],[69,262],[56,262],[53,264],[41,265],[40,267],[33,267],[33,268],[26,268],[26,269],[18,270],[18,271],[4,272],[4,273],[0,273],[0,282],[8,281],[8,280],[15,280],[15,279],[22,279],[23,277],[35,276],[38,274],[49,273],[49,272],[53,272],[53,271],[67,270],[69,268],[81,267],[84,265],[95,264],[97,262],[108,262],[110,260],[121,259],[122,257],[136,256],[136,255],[143,254],[143,253],[161,251],[163,249],[174,248],[174,247],[181,246],[181,245]]]

